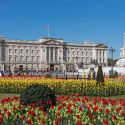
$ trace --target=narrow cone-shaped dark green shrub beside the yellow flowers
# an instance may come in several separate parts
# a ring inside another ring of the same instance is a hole
[[[98,66],[98,72],[97,72],[97,77],[96,77],[96,84],[101,85],[104,82],[104,76],[103,76],[103,71],[102,71],[102,66]]]

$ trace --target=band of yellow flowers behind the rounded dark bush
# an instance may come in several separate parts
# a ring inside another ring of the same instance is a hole
[[[47,84],[56,95],[80,93],[87,96],[125,95],[125,82],[121,80],[106,80],[102,86],[96,86],[94,80],[59,80],[40,78],[1,78],[1,93],[20,93],[31,84]]]

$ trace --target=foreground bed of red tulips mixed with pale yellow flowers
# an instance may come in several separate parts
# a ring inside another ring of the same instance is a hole
[[[59,96],[57,105],[46,112],[35,104],[22,106],[18,97],[4,98],[0,104],[0,124],[124,125],[125,98]]]

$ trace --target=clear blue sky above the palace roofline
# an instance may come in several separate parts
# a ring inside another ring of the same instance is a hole
[[[0,34],[8,39],[47,36],[123,46],[125,0],[0,0]]]

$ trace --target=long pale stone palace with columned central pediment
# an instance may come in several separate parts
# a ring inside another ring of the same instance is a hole
[[[12,40],[0,37],[1,70],[77,70],[88,68],[92,61],[107,65],[104,43],[65,42],[58,38]]]

